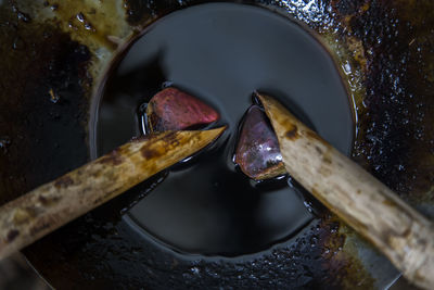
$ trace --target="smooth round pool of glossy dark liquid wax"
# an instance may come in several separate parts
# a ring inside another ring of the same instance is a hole
[[[234,256],[285,240],[314,218],[286,178],[257,184],[232,162],[254,90],[278,97],[334,147],[350,152],[353,106],[333,61],[311,35],[276,13],[230,3],[158,20],[107,79],[94,156],[140,135],[140,105],[167,85],[213,105],[229,129],[170,169],[128,211],[125,218],[144,239],[184,253]]]

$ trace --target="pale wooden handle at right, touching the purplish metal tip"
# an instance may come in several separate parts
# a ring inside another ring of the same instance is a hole
[[[279,102],[258,96],[279,139],[288,172],[370,240],[414,285],[434,287],[432,223],[341,154]]]

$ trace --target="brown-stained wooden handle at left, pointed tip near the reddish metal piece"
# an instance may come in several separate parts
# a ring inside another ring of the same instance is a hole
[[[0,207],[0,259],[203,149],[226,128],[131,141]]]

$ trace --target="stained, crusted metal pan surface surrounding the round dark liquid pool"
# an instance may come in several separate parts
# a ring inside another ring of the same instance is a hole
[[[0,0],[0,203],[86,163],[92,96],[112,58],[157,17],[202,2]],[[277,10],[319,35],[355,102],[354,159],[432,217],[434,2],[237,2]],[[126,193],[24,253],[62,289],[369,289],[397,275],[327,211],[263,255],[187,261],[143,243],[120,220],[137,198]]]

